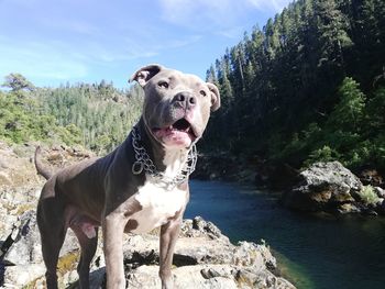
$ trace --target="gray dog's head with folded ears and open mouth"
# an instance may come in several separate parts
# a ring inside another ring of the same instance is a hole
[[[143,87],[145,125],[165,147],[189,147],[202,136],[210,111],[220,107],[218,88],[195,75],[148,65],[131,80]]]

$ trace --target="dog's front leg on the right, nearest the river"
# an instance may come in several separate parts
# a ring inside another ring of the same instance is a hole
[[[172,220],[161,227],[161,256],[160,256],[160,277],[162,289],[174,288],[172,265],[176,241],[180,231],[182,216]]]

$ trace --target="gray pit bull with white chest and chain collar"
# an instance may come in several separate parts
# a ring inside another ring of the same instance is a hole
[[[89,288],[100,225],[107,288],[125,288],[123,233],[145,233],[157,226],[162,288],[173,288],[170,268],[189,200],[195,143],[210,111],[220,107],[220,96],[215,85],[160,65],[139,69],[131,80],[144,89],[143,113],[112,153],[52,174],[36,149],[37,173],[47,179],[37,204],[37,224],[48,289],[57,288],[56,266],[68,227],[81,247],[77,267],[80,288]]]

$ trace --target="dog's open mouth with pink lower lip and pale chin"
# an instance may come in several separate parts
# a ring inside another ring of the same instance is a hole
[[[194,126],[186,120],[180,119],[166,127],[155,127],[153,134],[165,145],[190,146],[198,136]]]

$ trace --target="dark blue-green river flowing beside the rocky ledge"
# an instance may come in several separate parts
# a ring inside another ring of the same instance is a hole
[[[265,240],[298,289],[385,288],[385,219],[305,214],[278,196],[219,181],[190,182],[185,218],[201,215],[232,242]]]

